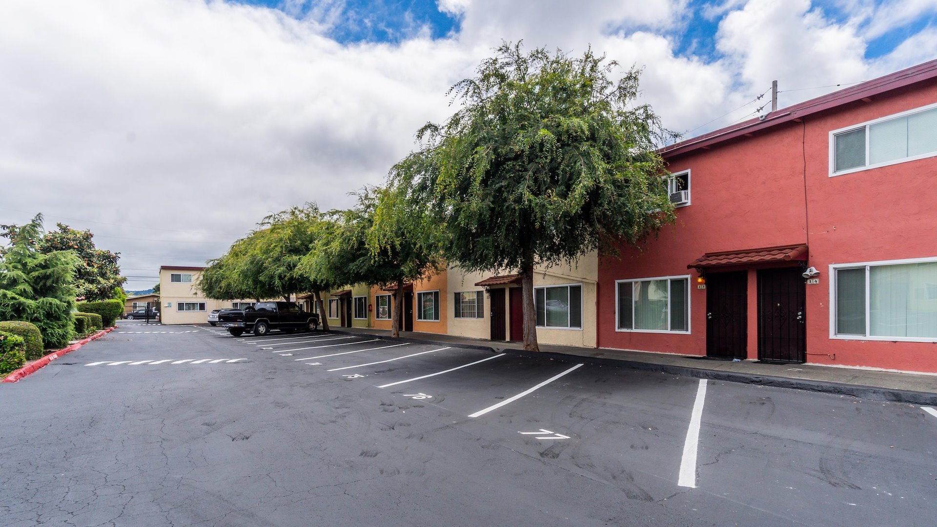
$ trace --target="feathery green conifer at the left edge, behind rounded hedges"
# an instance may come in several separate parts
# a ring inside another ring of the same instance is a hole
[[[46,346],[67,345],[73,332],[78,257],[71,250],[39,250],[41,214],[22,227],[0,228],[12,242],[0,251],[0,321],[36,324]]]

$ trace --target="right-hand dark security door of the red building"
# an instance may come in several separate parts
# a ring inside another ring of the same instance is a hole
[[[807,360],[806,300],[799,268],[758,271],[758,360]]]

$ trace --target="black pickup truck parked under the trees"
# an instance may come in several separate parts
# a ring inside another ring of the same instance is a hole
[[[255,337],[279,329],[292,333],[297,329],[315,331],[319,327],[319,315],[306,313],[293,302],[258,302],[253,308],[222,309],[218,313],[218,325],[227,327],[228,333],[240,337],[252,332]]]

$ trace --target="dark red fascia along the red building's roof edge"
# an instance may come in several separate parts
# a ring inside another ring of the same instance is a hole
[[[765,128],[776,127],[783,123],[789,123],[795,119],[803,119],[814,113],[821,113],[832,110],[837,107],[871,98],[883,93],[896,90],[911,84],[922,83],[937,78],[937,59],[918,64],[911,68],[905,68],[895,73],[890,73],[878,79],[872,79],[865,83],[859,83],[849,88],[843,88],[833,93],[826,94],[818,98],[811,98],[782,108],[774,113],[767,113],[766,118],[754,118],[743,121],[736,125],[720,128],[701,136],[664,146],[658,153],[663,158],[672,158],[681,154],[687,154],[699,148],[722,143],[743,136],[747,133],[763,130]]]

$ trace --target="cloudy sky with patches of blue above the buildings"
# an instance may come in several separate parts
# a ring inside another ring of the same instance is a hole
[[[642,67],[697,135],[937,57],[937,0],[3,0],[0,223],[91,229],[146,289],[349,206],[502,39]]]

